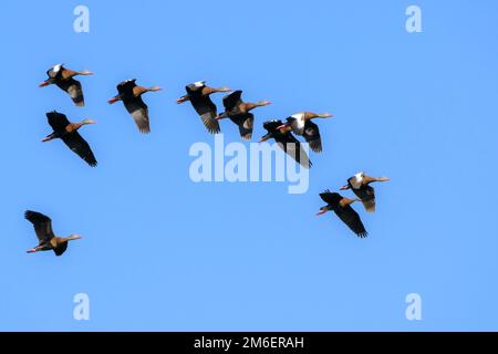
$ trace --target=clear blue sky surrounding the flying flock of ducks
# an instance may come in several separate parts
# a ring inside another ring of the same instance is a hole
[[[87,34],[73,31],[80,3]],[[405,31],[413,3],[421,34]],[[491,0],[3,3],[0,330],[498,330],[497,11]],[[95,72],[81,79],[85,107],[38,88],[61,62]],[[166,88],[145,98],[149,136],[106,103],[129,77]],[[335,114],[319,122],[308,194],[190,181],[188,149],[212,137],[175,100],[197,80],[274,102],[255,138],[268,118]],[[51,110],[98,122],[82,132],[96,169],[40,143]],[[375,215],[355,207],[364,240],[314,216],[318,194],[359,170],[392,178]],[[61,258],[27,254],[25,209],[85,238]],[[89,322],[73,320],[80,292]],[[412,292],[421,322],[405,319]]]

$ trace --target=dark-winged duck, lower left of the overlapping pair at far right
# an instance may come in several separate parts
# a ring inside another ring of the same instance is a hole
[[[330,190],[325,190],[320,194],[320,198],[326,206],[320,208],[320,211],[317,214],[318,216],[323,215],[330,210],[333,210],[335,215],[345,223],[347,227],[356,233],[357,237],[365,238],[369,236],[365,227],[363,226],[362,220],[356,211],[351,207],[351,205],[359,199],[349,199],[344,198],[338,192],[331,192]]]

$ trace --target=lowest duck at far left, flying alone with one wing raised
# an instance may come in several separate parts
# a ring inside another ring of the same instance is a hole
[[[62,256],[68,249],[69,241],[82,238],[80,235],[56,237],[52,230],[52,220],[43,214],[28,210],[24,212],[24,218],[33,225],[39,240],[38,246],[28,250],[28,253],[53,250],[55,256]]]

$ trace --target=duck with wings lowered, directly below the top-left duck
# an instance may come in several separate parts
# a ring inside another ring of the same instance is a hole
[[[82,126],[95,124],[95,121],[84,119],[81,123],[71,123],[64,114],[55,111],[46,113],[46,117],[53,133],[48,135],[42,142],[50,142],[55,138],[60,138],[70,149],[76,153],[90,166],[95,167],[97,165],[89,143],[86,143],[80,133],[77,133]]]

